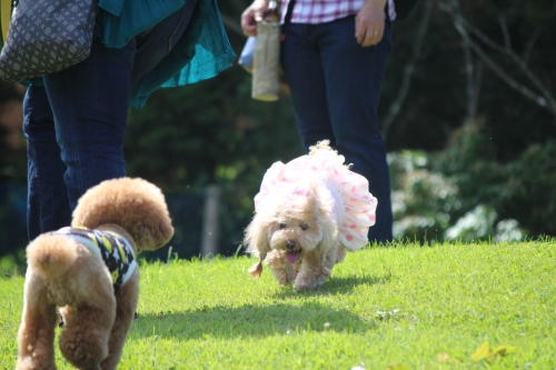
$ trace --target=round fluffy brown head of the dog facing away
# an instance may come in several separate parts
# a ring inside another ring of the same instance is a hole
[[[142,179],[102,181],[79,199],[72,227],[115,223],[131,234],[139,250],[155,250],[173,236],[162,191]]]

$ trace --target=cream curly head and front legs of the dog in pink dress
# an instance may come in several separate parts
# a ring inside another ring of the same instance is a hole
[[[287,196],[279,192],[246,230],[247,251],[266,261],[278,283],[294,283],[297,290],[321,286],[346,256],[329,217],[330,197],[319,183],[318,179],[307,179],[308,197],[298,207],[287,207]],[[261,268],[259,261],[251,268],[251,276],[260,276]]]

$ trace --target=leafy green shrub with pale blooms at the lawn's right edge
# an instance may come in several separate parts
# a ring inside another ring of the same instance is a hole
[[[556,234],[556,141],[496,159],[480,123],[467,122],[441,152],[389,153],[394,232],[411,240],[522,240]]]

